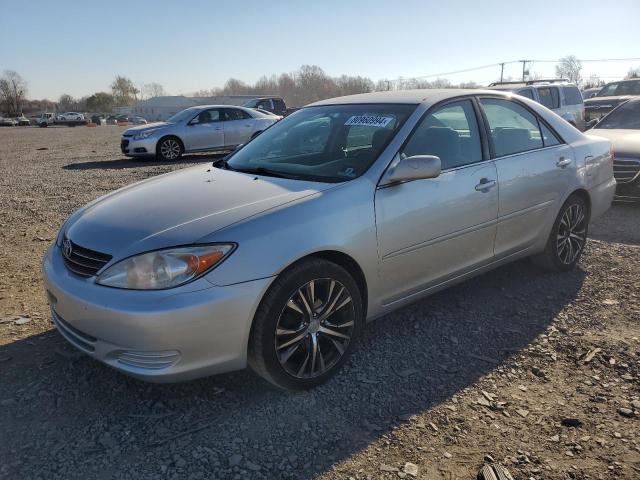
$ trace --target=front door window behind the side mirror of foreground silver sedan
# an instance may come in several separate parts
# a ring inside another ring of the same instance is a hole
[[[430,112],[414,130],[401,155],[435,155],[442,169],[482,161],[478,122],[471,100],[448,103]]]

